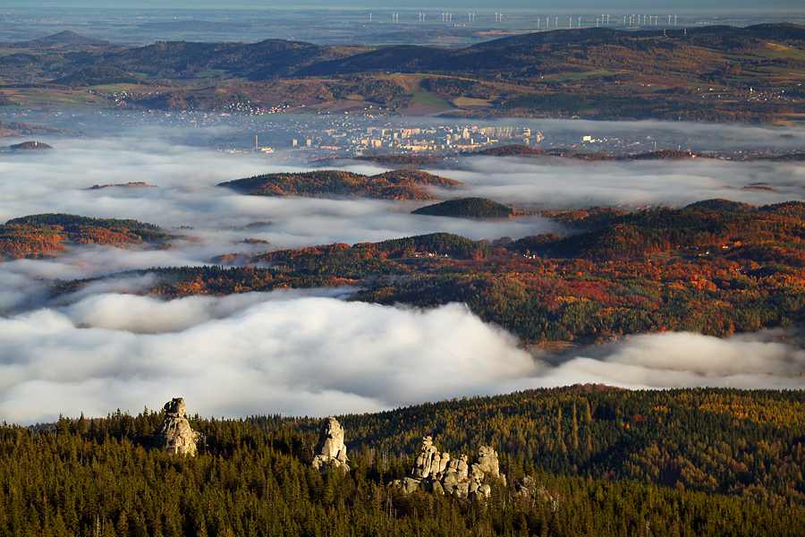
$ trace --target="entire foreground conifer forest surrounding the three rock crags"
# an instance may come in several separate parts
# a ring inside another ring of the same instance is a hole
[[[194,457],[150,448],[164,412],[148,409],[3,423],[0,535],[791,537],[805,527],[803,415],[799,391],[473,397],[340,417],[349,473],[311,467],[309,418],[197,414]],[[402,494],[389,483],[424,433],[455,455],[492,442],[506,482],[484,502]]]

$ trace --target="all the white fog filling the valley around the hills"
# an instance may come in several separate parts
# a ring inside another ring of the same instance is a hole
[[[60,125],[64,126],[64,125]],[[544,124],[556,133],[578,122]],[[681,130],[703,140],[778,141],[780,131],[701,124],[589,124],[584,130]],[[784,131],[785,141],[805,132]],[[181,137],[179,137],[181,139]],[[352,289],[277,291],[166,302],[138,294],[148,272],[97,280],[52,299],[55,279],[131,268],[201,265],[232,252],[359,243],[450,232],[471,239],[558,232],[542,217],[502,222],[418,217],[422,203],[242,196],[232,179],[311,169],[292,153],[232,155],[182,145],[175,132],[137,127],[77,139],[38,137],[55,149],[0,153],[0,222],[45,212],[136,218],[188,239],[166,251],[82,247],[52,260],[0,263],[0,420],[47,422],[60,413],[139,412],[183,396],[191,413],[322,416],[453,396],[600,382],[625,388],[803,388],[805,353],[772,333],[716,339],[642,335],[562,356],[524,351],[511,334],[462,304],[421,311],[353,303]],[[7,140],[3,145],[16,142]],[[793,142],[792,142],[793,143]],[[741,146],[742,147],[742,146]],[[362,174],[386,171],[342,161]],[[465,157],[431,170],[464,183],[444,197],[481,196],[546,208],[683,206],[726,198],[754,205],[802,200],[805,166],[695,159],[583,163],[559,158]],[[153,188],[94,184],[145,182]],[[744,189],[764,183],[773,190]],[[271,226],[244,226],[256,221]],[[247,238],[267,244],[247,245]]]

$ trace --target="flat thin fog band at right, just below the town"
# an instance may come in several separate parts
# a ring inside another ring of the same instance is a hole
[[[563,158],[468,158],[453,179],[473,196],[539,203],[548,209],[592,206],[684,207],[725,198],[751,205],[802,200],[805,169],[796,164],[685,161],[585,163]],[[746,188],[764,186],[767,188]]]

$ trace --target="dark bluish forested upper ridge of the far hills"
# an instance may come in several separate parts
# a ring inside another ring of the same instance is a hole
[[[496,39],[461,49],[413,45],[322,47],[279,39],[251,44],[162,42],[106,55],[100,64],[149,74],[170,70],[182,76],[206,69],[231,70],[234,67],[250,80],[355,72],[444,72],[445,65],[449,65],[452,72],[507,72],[521,76],[528,72],[551,72],[585,61],[599,67],[615,67],[624,59],[645,62],[654,54],[654,60],[644,67],[659,74],[701,69],[703,66],[698,63],[708,59],[699,57],[694,47],[716,47],[732,52],[758,47],[763,39],[805,47],[805,28],[794,24],[708,27],[691,29],[684,36],[682,30],[668,33],[672,39],[660,39],[662,30],[555,30]],[[678,40],[681,37],[685,39]],[[610,54],[606,54],[607,47],[611,47]],[[580,56],[576,54],[577,49],[587,52]],[[623,52],[627,51],[634,57],[624,58]]]

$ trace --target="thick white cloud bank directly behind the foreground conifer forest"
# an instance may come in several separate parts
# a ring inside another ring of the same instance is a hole
[[[324,416],[586,382],[801,388],[805,370],[805,352],[771,338],[696,334],[633,337],[551,365],[460,304],[418,311],[339,292],[99,294],[0,319],[0,416],[137,413],[174,396],[206,416]]]

